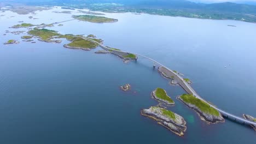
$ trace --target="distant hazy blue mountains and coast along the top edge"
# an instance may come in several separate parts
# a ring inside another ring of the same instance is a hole
[[[191,0],[193,1],[193,0]],[[2,4],[59,5],[107,12],[136,12],[157,15],[195,17],[199,19],[256,22],[256,5],[238,3],[196,3],[186,0],[2,0]],[[195,0],[196,1],[196,0]],[[98,5],[95,3],[108,3]],[[110,3],[119,3],[115,5]],[[248,1],[249,3],[249,1]]]

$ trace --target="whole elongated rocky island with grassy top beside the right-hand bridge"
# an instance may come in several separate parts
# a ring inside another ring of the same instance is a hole
[[[203,121],[206,121],[207,123],[224,122],[224,118],[219,113],[219,111],[217,111],[204,101],[194,97],[194,95],[183,94],[179,95],[177,99],[181,100],[182,103],[184,103],[191,109],[194,109],[199,114],[201,119]]]

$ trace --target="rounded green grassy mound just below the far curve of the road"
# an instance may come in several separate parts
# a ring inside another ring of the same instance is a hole
[[[67,45],[72,47],[82,47],[82,48],[89,48],[89,49],[95,48],[97,46],[97,44],[89,40],[85,40],[83,38],[75,38],[71,43]]]

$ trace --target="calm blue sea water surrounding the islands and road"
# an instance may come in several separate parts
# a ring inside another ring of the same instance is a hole
[[[54,9],[57,10],[57,9]],[[0,13],[0,44],[21,35],[4,34],[18,21],[50,23],[73,14]],[[39,18],[28,19],[28,16]],[[15,16],[15,17],[10,17]],[[152,57],[191,79],[201,97],[241,116],[256,116],[256,25],[238,21],[154,15],[107,14],[117,23],[69,21],[60,33],[95,34],[104,44]],[[237,27],[228,27],[236,25]],[[208,125],[175,99],[153,64],[139,58],[124,64],[114,55],[71,50],[62,44],[21,41],[0,45],[0,143],[254,143],[255,131],[226,119]],[[225,68],[226,66],[226,68]],[[120,85],[130,83],[131,92]],[[187,121],[184,137],[174,135],[140,110],[156,105],[150,92],[165,88]]]

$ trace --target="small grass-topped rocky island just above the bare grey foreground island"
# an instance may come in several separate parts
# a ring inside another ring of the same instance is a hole
[[[166,105],[173,106],[175,104],[174,101],[167,95],[166,91],[162,88],[156,88],[152,92],[152,97],[159,102],[165,103]]]

